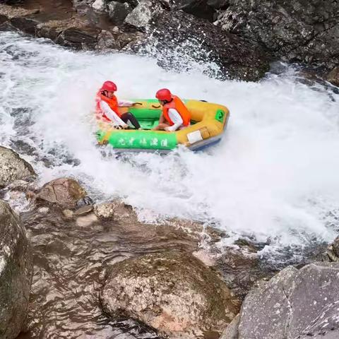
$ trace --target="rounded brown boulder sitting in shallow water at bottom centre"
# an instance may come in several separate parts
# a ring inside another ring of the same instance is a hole
[[[116,263],[101,294],[113,318],[138,319],[170,338],[220,333],[237,314],[237,300],[212,270],[180,252]]]

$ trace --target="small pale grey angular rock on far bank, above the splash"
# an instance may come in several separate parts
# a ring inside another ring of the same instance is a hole
[[[163,8],[157,1],[140,0],[138,6],[126,16],[124,22],[140,30],[145,30],[150,21],[162,13],[162,11]]]

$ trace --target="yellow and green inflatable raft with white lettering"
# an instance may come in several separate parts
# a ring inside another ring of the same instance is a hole
[[[148,151],[168,153],[179,145],[190,150],[201,150],[218,143],[227,125],[230,112],[227,107],[198,100],[184,100],[191,113],[191,125],[179,131],[152,131],[157,126],[162,107],[157,100],[131,100],[134,107],[121,107],[121,113],[131,112],[138,119],[142,130],[114,129],[98,121],[97,141],[101,145],[112,145],[117,151]]]

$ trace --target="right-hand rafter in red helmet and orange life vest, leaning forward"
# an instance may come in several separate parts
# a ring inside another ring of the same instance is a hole
[[[179,97],[172,95],[167,88],[158,90],[155,97],[162,105],[162,114],[159,124],[154,128],[155,131],[172,132],[189,126],[191,114]]]

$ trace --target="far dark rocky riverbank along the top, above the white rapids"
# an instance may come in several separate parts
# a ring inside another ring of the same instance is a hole
[[[213,76],[258,81],[275,60],[297,62],[338,85],[336,1],[4,1],[0,30],[47,37],[74,49],[213,62]],[[73,5],[73,6],[72,6]]]

